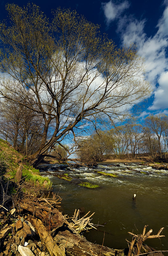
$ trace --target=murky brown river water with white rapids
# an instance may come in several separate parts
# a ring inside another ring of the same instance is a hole
[[[95,170],[118,177],[102,176]],[[105,246],[123,249],[128,247],[125,238],[132,240],[128,231],[140,234],[148,224],[146,230],[153,229],[154,235],[164,227],[165,237],[148,239],[145,243],[157,250],[168,250],[168,171],[135,163],[119,166],[100,163],[95,169],[75,167],[74,171],[67,165],[50,165],[40,167],[40,172],[53,182],[53,192],[59,192],[62,198],[60,210],[64,214],[70,217],[75,209],[85,207],[85,213],[95,212],[92,223],[106,223],[98,227],[99,231],[92,229],[84,234],[89,241],[102,244],[104,237]],[[53,176],[58,173],[67,173],[74,179],[67,182]],[[98,184],[100,188],[80,187],[80,181]],[[135,201],[132,199],[134,194]]]

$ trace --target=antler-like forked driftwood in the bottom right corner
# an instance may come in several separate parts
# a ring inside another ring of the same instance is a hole
[[[127,239],[126,241],[128,242],[129,244],[129,252],[128,252],[128,256],[130,256],[132,253],[134,253],[134,255],[139,255],[141,254],[141,247],[143,245],[143,242],[145,240],[147,240],[148,238],[157,238],[157,237],[164,237],[164,235],[160,235],[160,233],[163,231],[164,228],[161,228],[159,229],[157,235],[151,235],[152,233],[152,229],[150,229],[146,234],[146,228],[148,227],[148,225],[145,225],[144,228],[143,228],[143,233],[140,234],[140,235],[136,235],[136,234],[133,234],[131,232],[128,232],[130,235],[133,236],[132,238],[132,241],[129,242]],[[135,244],[136,243],[136,244]],[[149,248],[149,247],[148,247]],[[149,248],[149,251],[150,252],[150,248]],[[161,255],[161,254],[160,254]],[[163,254],[162,254],[163,255]]]

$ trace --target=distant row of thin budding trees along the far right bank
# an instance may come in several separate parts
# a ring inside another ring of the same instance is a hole
[[[97,131],[78,141],[81,161],[137,158],[146,154],[153,160],[168,157],[168,116],[150,115],[142,124],[131,123],[108,131]]]

